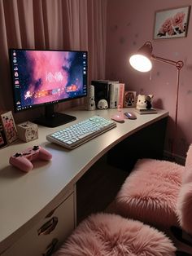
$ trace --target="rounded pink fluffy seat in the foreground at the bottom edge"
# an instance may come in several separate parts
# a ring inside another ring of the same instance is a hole
[[[53,256],[171,256],[175,247],[163,232],[116,214],[86,218]]]

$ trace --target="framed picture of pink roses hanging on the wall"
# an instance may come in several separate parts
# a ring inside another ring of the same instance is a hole
[[[186,37],[190,6],[156,11],[154,39]]]

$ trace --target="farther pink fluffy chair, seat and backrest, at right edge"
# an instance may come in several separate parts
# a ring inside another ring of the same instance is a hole
[[[185,166],[170,161],[138,160],[116,196],[116,213],[160,229],[173,226],[176,235],[181,229],[191,235],[192,145]]]

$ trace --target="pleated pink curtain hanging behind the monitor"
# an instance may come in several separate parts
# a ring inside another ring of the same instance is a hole
[[[9,48],[86,50],[89,82],[105,78],[106,9],[107,0],[0,0],[0,110],[12,110]]]

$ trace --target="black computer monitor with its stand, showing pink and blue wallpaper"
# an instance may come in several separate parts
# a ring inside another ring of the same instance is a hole
[[[87,51],[10,49],[15,112],[45,106],[36,120],[48,127],[75,120],[54,105],[87,95]]]

